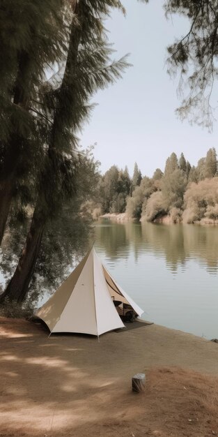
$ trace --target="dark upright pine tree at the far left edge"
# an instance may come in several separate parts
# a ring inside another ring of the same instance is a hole
[[[63,18],[62,0],[1,1],[0,243],[17,186],[29,172],[32,181],[43,154],[43,119],[36,119],[35,102],[45,66],[60,61],[65,52]]]

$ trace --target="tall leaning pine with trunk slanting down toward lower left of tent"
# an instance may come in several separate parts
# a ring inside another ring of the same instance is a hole
[[[45,225],[61,208],[63,199],[73,198],[77,192],[81,157],[76,133],[90,112],[89,98],[96,89],[120,77],[127,66],[125,59],[110,64],[111,47],[102,20],[109,15],[111,6],[121,8],[117,0],[76,3],[61,86],[50,93],[42,92],[41,113],[49,121],[52,119],[45,167],[40,175],[38,199],[26,244],[1,300],[6,296],[17,302],[25,299]]]

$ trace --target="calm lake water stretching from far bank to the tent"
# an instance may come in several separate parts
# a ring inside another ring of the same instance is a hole
[[[218,227],[104,219],[95,249],[143,318],[218,338]]]

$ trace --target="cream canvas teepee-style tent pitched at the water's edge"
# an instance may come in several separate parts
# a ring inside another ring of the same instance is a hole
[[[137,316],[143,310],[112,279],[92,248],[68,279],[35,314],[51,333],[78,332],[99,336],[124,327],[114,301],[129,304]]]

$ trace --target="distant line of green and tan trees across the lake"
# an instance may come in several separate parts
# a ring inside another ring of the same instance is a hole
[[[127,167],[119,170],[113,165],[100,177],[98,203],[93,203],[92,209],[94,216],[125,212],[127,218],[141,221],[159,221],[164,216],[173,223],[218,220],[215,148],[209,149],[196,167],[183,154],[178,158],[172,153],[164,172],[157,168],[153,177],[142,177],[137,163],[132,178]]]

